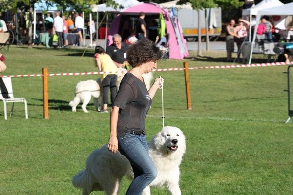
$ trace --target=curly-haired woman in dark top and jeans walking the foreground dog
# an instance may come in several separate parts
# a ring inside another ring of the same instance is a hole
[[[125,74],[112,104],[108,149],[126,156],[134,173],[126,195],[141,195],[157,176],[157,168],[149,157],[146,143],[145,118],[163,78],[155,79],[147,91],[142,75],[157,68],[161,51],[148,39],[131,45],[126,59],[132,69]]]

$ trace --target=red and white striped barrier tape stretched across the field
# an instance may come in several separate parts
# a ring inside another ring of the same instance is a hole
[[[241,65],[223,65],[223,66],[201,66],[201,67],[189,67],[189,70],[197,69],[224,69],[224,68],[251,68],[251,67],[264,67],[264,66],[284,66],[291,65],[292,62],[273,62],[273,63],[260,63],[260,64],[241,64]],[[174,71],[174,70],[184,70],[185,68],[158,68],[152,72],[162,72],[162,71]],[[121,71],[126,72],[126,71]],[[101,75],[104,73],[117,73],[116,72],[84,72],[84,73],[52,73],[48,76],[69,76],[69,75]],[[0,75],[0,77],[42,77],[42,74],[27,74],[27,75]]]

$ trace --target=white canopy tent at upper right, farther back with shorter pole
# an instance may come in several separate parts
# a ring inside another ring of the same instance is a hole
[[[250,26],[249,26],[249,35],[251,35],[251,19],[252,15],[257,15],[259,11],[269,9],[269,8],[274,8],[277,6],[284,5],[284,3],[280,2],[279,0],[262,0],[260,3],[257,5],[249,8],[249,9],[244,9],[242,10],[242,16],[247,16],[249,15],[249,20],[250,20]],[[251,42],[251,36],[249,36],[249,41]]]

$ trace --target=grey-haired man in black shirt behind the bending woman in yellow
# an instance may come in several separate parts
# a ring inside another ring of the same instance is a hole
[[[126,49],[128,45],[122,42],[122,38],[119,34],[113,35],[113,44],[107,47],[106,53],[111,57],[118,68],[123,67],[123,63],[126,61]]]

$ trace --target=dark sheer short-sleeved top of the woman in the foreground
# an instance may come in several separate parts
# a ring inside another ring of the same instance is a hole
[[[131,73],[126,73],[113,103],[113,106],[120,108],[117,137],[123,136],[128,130],[146,134],[145,118],[151,103],[145,83]]]

